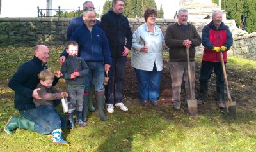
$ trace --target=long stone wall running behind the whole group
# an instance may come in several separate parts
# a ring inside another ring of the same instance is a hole
[[[38,44],[45,44],[47,46],[65,45],[67,41],[67,27],[71,19],[72,18],[0,18],[0,46],[35,46]],[[129,22],[132,31],[135,31],[144,23],[144,19],[129,18]],[[161,28],[164,35],[168,25],[174,22],[176,22],[175,19],[156,20],[156,24]],[[195,19],[189,20],[189,22],[195,25],[198,33],[201,35],[204,25],[209,24],[211,19]],[[225,20],[224,22],[226,25],[230,26],[230,31],[234,38],[241,34],[234,20]],[[241,39],[243,38],[244,37],[241,37]],[[244,53],[246,53],[244,49],[248,47],[250,52],[255,52],[255,45],[253,48],[253,45],[242,46],[244,44],[245,43],[236,43],[236,53],[230,54],[239,56],[243,54],[242,57],[251,57],[251,55],[244,55]],[[240,47],[243,53],[239,53],[239,45],[243,47],[243,49]],[[253,48],[253,50],[251,48]],[[196,53],[202,53],[202,49],[202,45],[198,46]],[[232,52],[232,50],[230,52]]]

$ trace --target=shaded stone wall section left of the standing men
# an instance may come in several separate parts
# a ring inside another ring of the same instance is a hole
[[[0,45],[63,45],[70,19],[0,18]]]

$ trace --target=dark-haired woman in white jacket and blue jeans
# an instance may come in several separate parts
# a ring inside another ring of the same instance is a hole
[[[164,37],[161,29],[155,25],[157,11],[148,8],[144,13],[145,23],[133,34],[131,66],[134,67],[140,102],[143,106],[157,105],[163,69],[162,51]]]

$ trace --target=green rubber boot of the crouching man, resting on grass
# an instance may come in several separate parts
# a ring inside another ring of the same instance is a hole
[[[12,116],[8,123],[4,127],[4,131],[7,134],[13,134],[17,128],[23,128],[26,130],[34,131],[35,122],[28,120],[27,118]]]

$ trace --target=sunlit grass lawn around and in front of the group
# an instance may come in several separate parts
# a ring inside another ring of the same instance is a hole
[[[49,48],[47,65],[56,71],[60,69],[58,57],[63,46]],[[108,114],[108,121],[100,121],[96,113],[90,113],[88,127],[64,130],[63,137],[71,146],[56,146],[47,135],[36,132],[22,129],[12,135],[4,132],[8,118],[20,116],[13,107],[14,92],[8,88],[8,81],[20,64],[32,58],[33,48],[0,48],[0,53],[0,151],[256,151],[254,61],[228,59],[230,73],[235,74],[230,78],[234,82],[232,92],[246,99],[239,102],[238,96],[235,97],[235,121],[227,121],[225,110],[214,106],[199,106],[200,115],[192,119],[186,107],[180,111],[174,111],[171,103],[141,107],[138,99],[125,98],[128,112],[115,109],[115,113]],[[200,63],[200,59],[196,57],[196,62]],[[254,75],[248,76],[248,71]],[[233,81],[237,79],[236,74],[243,79]],[[61,79],[56,87],[64,90],[65,81]],[[63,113],[61,108],[60,105],[57,109]]]

